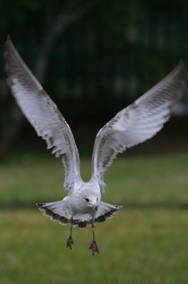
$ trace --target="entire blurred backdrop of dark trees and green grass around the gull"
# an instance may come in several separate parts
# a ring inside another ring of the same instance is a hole
[[[90,229],[50,222],[36,202],[60,200],[64,170],[45,150],[6,87],[6,36],[74,133],[83,178],[98,130],[182,59],[188,63],[185,0],[1,1],[1,283],[187,283],[188,88],[172,119],[107,170],[103,200],[124,205]]]

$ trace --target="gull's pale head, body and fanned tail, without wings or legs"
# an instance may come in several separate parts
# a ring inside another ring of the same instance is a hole
[[[86,228],[95,222],[110,219],[122,207],[101,201],[100,187],[97,180],[91,178],[89,182],[77,181],[69,195],[58,202],[37,203],[45,215],[60,224]]]

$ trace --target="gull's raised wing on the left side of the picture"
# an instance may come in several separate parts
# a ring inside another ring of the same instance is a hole
[[[56,157],[61,156],[65,167],[64,187],[71,190],[80,179],[80,159],[74,136],[56,104],[18,55],[11,39],[6,41],[5,52],[8,87],[30,124],[52,148]]]

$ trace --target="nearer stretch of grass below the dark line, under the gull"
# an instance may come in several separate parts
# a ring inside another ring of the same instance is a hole
[[[100,254],[91,256],[91,229],[69,228],[33,210],[0,217],[1,284],[187,284],[188,213],[176,209],[122,210],[96,228]]]

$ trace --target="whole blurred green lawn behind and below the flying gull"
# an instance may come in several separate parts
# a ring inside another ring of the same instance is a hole
[[[90,160],[82,172],[89,177]],[[59,200],[63,170],[49,156],[16,155],[0,171],[0,283],[188,283],[188,154],[125,155],[106,174],[103,200],[124,204],[96,227],[100,254],[88,251],[91,229],[51,222],[37,201]]]

